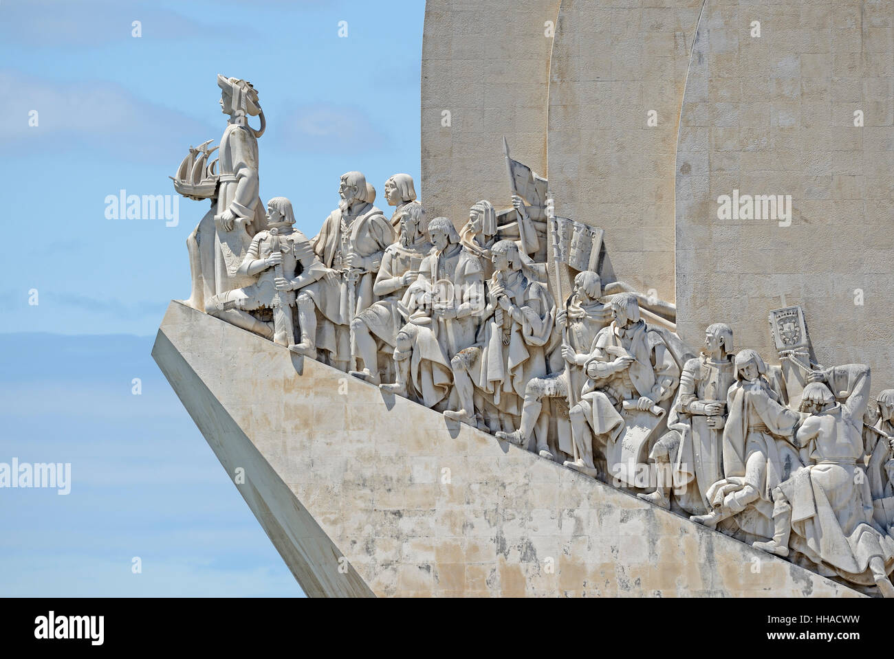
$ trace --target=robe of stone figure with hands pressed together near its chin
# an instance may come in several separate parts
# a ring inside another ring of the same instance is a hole
[[[505,279],[499,271],[494,272],[488,285],[491,290],[504,287],[521,310],[523,321],[503,312],[503,322],[498,325],[495,310],[500,307],[488,292],[488,308],[493,311],[488,312],[478,331],[480,355],[468,364],[468,372],[475,387],[488,395],[488,403],[502,413],[519,416],[528,380],[546,374],[544,346],[555,320],[552,296],[546,287],[529,281],[520,271]]]

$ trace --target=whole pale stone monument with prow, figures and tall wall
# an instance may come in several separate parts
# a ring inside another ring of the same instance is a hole
[[[313,238],[218,76],[153,355],[308,595],[894,596],[891,21],[429,0],[422,194]]]

